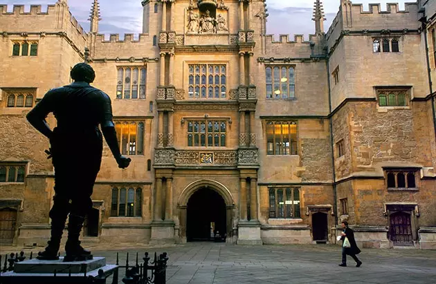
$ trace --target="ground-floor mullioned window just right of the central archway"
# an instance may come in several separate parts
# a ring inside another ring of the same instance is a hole
[[[291,200],[287,198],[287,192],[290,191],[289,196]],[[296,190],[298,191],[298,200],[295,200]],[[279,191],[282,191],[282,201],[280,201]],[[274,195],[271,194],[274,193]],[[272,200],[271,196],[274,196]],[[291,204],[287,204],[291,202]],[[280,203],[282,203],[283,208],[281,209]],[[295,204],[296,203],[296,204]],[[300,187],[268,187],[268,204],[269,204],[269,219],[301,219],[301,188]],[[288,207],[288,206],[289,207]],[[296,210],[298,209],[298,210]],[[280,213],[282,211],[282,214]],[[297,215],[298,212],[298,216]]]

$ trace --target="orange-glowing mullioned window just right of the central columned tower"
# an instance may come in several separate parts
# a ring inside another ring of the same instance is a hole
[[[298,155],[297,122],[266,122],[266,155]]]

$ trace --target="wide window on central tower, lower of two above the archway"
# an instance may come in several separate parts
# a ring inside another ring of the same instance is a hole
[[[225,147],[227,124],[219,120],[188,121],[188,146]]]

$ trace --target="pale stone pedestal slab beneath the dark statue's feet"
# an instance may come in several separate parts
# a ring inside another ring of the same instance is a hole
[[[33,259],[15,263],[12,272],[1,274],[4,284],[43,283],[106,283],[118,265],[107,265],[106,258],[94,257],[90,261],[63,262]]]

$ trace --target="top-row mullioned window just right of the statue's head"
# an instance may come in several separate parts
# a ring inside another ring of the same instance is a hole
[[[145,99],[145,82],[147,69],[145,67],[118,67],[117,99]]]

